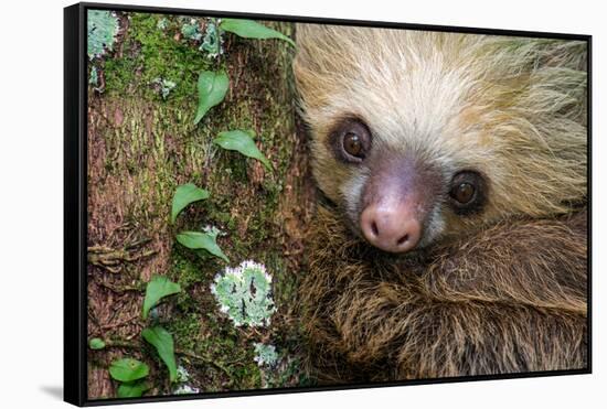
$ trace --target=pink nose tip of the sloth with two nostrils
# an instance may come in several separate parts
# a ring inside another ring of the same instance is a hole
[[[371,204],[361,214],[361,229],[369,243],[390,252],[413,249],[422,236],[422,225],[405,204]]]

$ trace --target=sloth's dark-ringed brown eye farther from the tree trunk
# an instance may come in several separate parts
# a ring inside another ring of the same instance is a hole
[[[450,184],[449,198],[457,214],[480,212],[486,202],[484,179],[475,171],[457,173]]]

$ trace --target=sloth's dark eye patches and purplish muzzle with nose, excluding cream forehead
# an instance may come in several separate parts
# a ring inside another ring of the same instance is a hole
[[[326,148],[351,174],[342,187],[349,225],[384,251],[424,247],[444,233],[446,214],[466,218],[487,203],[480,172],[444,169],[427,152],[392,150],[360,118],[337,123]]]

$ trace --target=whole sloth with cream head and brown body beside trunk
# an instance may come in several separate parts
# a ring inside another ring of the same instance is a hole
[[[319,383],[587,367],[582,41],[298,24]]]

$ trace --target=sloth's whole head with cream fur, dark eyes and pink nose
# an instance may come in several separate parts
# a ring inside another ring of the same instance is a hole
[[[297,25],[320,190],[406,252],[586,196],[584,43]]]

